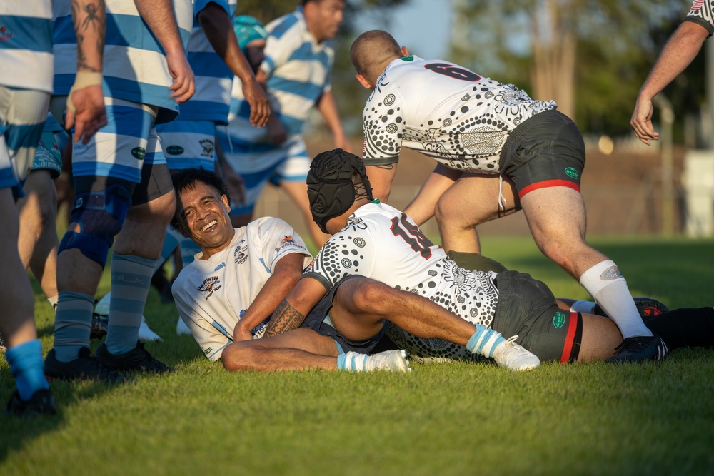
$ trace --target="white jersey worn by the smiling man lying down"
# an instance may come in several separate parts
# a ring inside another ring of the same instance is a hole
[[[223,348],[233,342],[233,328],[278,260],[301,253],[306,266],[312,259],[302,238],[278,218],[258,218],[235,230],[226,249],[208,260],[198,259],[198,253],[171,287],[178,313],[211,360],[221,358]]]

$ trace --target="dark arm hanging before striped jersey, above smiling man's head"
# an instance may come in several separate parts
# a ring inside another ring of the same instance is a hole
[[[251,105],[251,124],[261,128],[270,117],[268,96],[256,81],[253,70],[243,56],[241,47],[238,46],[236,32],[233,31],[233,22],[228,12],[215,3],[209,3],[206,8],[198,12],[198,23],[203,32],[216,50],[218,56],[226,62],[233,74],[238,76],[243,84],[243,96]]]

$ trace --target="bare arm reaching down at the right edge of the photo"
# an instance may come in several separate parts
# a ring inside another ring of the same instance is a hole
[[[693,21],[684,21],[667,41],[640,89],[630,125],[635,136],[648,146],[650,141],[660,137],[652,126],[652,98],[689,66],[708,36],[709,32],[703,26]]]

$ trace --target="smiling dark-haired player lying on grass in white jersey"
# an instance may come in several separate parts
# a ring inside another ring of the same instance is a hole
[[[311,257],[293,229],[276,218],[261,218],[246,227],[233,228],[225,186],[212,173],[181,171],[174,176],[174,187],[177,213],[172,223],[201,248],[196,260],[181,270],[174,283],[176,307],[208,358],[222,358],[228,370],[243,368],[242,358],[231,358],[233,348],[226,344],[252,341],[254,335],[263,333],[266,320],[296,285]],[[323,285],[315,283],[321,295],[313,304],[327,294]],[[361,276],[339,289],[340,299],[334,305],[329,299],[325,306],[316,308],[315,313],[321,314],[311,322],[321,324],[330,310],[340,333],[328,325],[316,328],[324,335],[310,328],[291,330],[269,340],[268,345],[279,350],[271,353],[270,360],[263,360],[261,355],[261,366],[255,368],[407,370],[401,350],[366,355],[381,338],[386,318],[414,335],[476,349],[511,370],[528,370],[540,364],[535,355],[496,331],[459,319],[412,293]],[[273,326],[266,334],[279,332]]]

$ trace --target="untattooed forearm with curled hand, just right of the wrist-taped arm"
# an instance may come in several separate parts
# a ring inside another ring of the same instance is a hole
[[[196,80],[186,59],[186,51],[183,51],[173,3],[171,0],[134,0],[134,4],[166,51],[169,74],[174,78],[174,84],[169,88],[171,98],[177,103],[185,103],[196,91]]]

